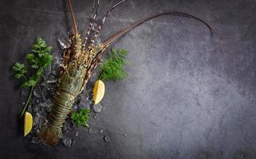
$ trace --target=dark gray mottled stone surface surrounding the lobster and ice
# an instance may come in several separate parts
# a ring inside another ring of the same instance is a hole
[[[100,17],[117,0],[101,2]],[[92,1],[73,0],[79,30],[89,25]],[[19,133],[20,96],[11,66],[24,61],[36,37],[58,49],[71,26],[64,1],[0,2],[0,158],[256,158],[256,1],[129,0],[112,13],[100,37],[166,10],[203,18],[164,16],[148,21],[112,47],[129,51],[129,76],[107,82],[94,130],[70,149],[32,145]],[[124,138],[123,134],[128,136]]]

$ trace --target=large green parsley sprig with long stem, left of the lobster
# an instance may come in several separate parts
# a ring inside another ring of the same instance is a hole
[[[45,72],[45,68],[49,66],[52,62],[52,56],[50,55],[52,47],[46,45],[45,41],[41,38],[37,38],[35,43],[32,45],[32,52],[26,54],[26,60],[28,62],[27,67],[25,64],[15,63],[14,64],[14,78],[22,79],[23,83],[21,87],[23,89],[30,88],[30,93],[26,99],[26,103],[22,109],[22,114],[20,118],[22,118],[23,114],[28,107],[33,90],[36,87],[38,81],[40,80],[41,75]],[[29,70],[33,70],[32,75],[28,75]],[[28,77],[30,76],[30,77]]]

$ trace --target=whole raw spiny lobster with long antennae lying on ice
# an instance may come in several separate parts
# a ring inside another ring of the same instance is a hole
[[[126,1],[127,0],[122,0],[116,3],[116,5],[112,6],[100,24],[96,25],[94,35],[89,38],[90,33],[93,32],[93,25],[96,21],[96,14],[100,3],[100,0],[95,0],[93,3],[93,12],[91,14],[89,28],[85,35],[85,39],[82,40],[81,35],[77,30],[77,23],[75,21],[71,2],[70,0],[67,0],[72,17],[73,35],[69,37],[69,40],[71,41],[70,47],[65,48],[64,51],[64,60],[59,73],[59,85],[55,95],[53,96],[53,107],[49,114],[48,122],[45,124],[45,128],[41,130],[39,134],[39,138],[41,138],[43,142],[46,142],[49,145],[57,145],[61,135],[61,128],[73,107],[74,99],[81,93],[81,91],[83,91],[85,84],[92,75],[93,70],[99,64],[100,57],[102,56],[104,50],[108,48],[108,46],[112,43],[112,41],[116,40],[116,38],[121,37],[124,35],[124,33],[128,33],[128,31],[134,29],[138,25],[141,25],[145,21],[149,21],[155,17],[160,17],[166,14],[192,17],[203,22],[204,25],[207,25],[208,29],[210,29],[212,33],[211,26],[205,21],[201,20],[199,17],[177,11],[168,11],[137,21],[134,24],[120,30],[103,43],[95,45],[95,41],[98,38],[100,30],[102,29],[102,26],[104,25],[104,22],[109,14],[111,14],[112,10],[114,10],[116,6],[119,6],[121,3]]]

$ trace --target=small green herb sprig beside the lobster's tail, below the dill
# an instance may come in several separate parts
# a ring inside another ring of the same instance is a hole
[[[89,127],[87,123],[89,120],[89,112],[90,112],[89,108],[84,108],[84,109],[81,109],[80,111],[73,112],[71,114],[71,119],[73,120],[73,122],[77,123],[77,127],[78,126]]]

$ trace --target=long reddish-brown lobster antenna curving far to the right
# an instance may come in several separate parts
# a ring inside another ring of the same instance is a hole
[[[140,21],[137,21],[136,23],[132,24],[132,25],[129,25],[128,27],[120,30],[120,32],[114,34],[112,37],[108,38],[107,41],[104,41],[104,43],[102,45],[104,46],[107,46],[107,45],[110,45],[112,43],[112,41],[115,41],[116,38],[124,35],[124,33],[128,33],[128,31],[136,28],[136,26],[138,25],[141,25],[143,24],[144,22],[146,21],[149,21],[149,20],[152,20],[153,18],[156,18],[156,17],[160,17],[162,15],[166,15],[166,14],[173,14],[173,15],[177,15],[177,16],[185,16],[185,17],[191,17],[197,21],[201,21],[204,25],[207,26],[207,28],[210,30],[211,32],[211,35],[213,35],[215,33],[214,29],[211,27],[211,25],[208,25],[206,21],[203,21],[202,19],[200,19],[199,17],[195,17],[194,15],[191,15],[191,14],[186,14],[186,13],[183,13],[183,12],[178,12],[178,11],[168,11],[168,12],[164,12],[162,14],[156,14],[156,15],[152,15],[151,17],[147,17],[147,18],[144,18]]]

